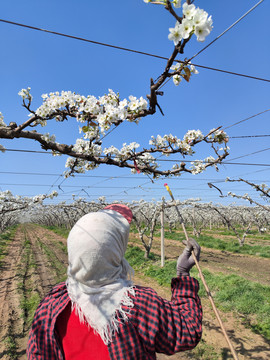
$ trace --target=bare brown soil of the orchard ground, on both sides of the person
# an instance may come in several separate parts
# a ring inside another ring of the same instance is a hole
[[[131,242],[137,243],[136,237],[132,236]],[[10,242],[0,271],[0,359],[26,359],[30,311],[23,308],[22,303],[29,298],[29,294],[42,299],[64,277],[67,266],[67,255],[63,247],[65,243],[65,238],[36,225],[21,225],[14,241]],[[166,240],[167,258],[176,258],[181,249],[176,241]],[[153,250],[157,253],[160,251],[157,241]],[[201,266],[202,270],[237,273],[251,281],[270,285],[269,259],[202,249]],[[140,273],[135,274],[135,282],[150,286],[160,296],[170,298],[169,289],[159,286],[155,280],[145,278]],[[219,354],[216,359],[232,359],[208,300],[203,299],[202,304],[202,343],[211,346]],[[220,312],[220,316],[240,360],[270,359],[269,341],[245,328],[239,314]],[[158,355],[157,358],[201,358],[194,354],[191,351],[173,356]]]

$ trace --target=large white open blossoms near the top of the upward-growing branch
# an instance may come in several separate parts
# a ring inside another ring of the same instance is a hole
[[[183,4],[183,20],[176,22],[175,27],[169,28],[169,40],[177,45],[182,39],[188,39],[193,34],[196,35],[197,41],[203,42],[212,30],[212,17],[194,4]]]

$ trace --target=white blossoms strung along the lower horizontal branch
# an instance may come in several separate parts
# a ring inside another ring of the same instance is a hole
[[[188,132],[184,135],[183,140],[179,139],[177,136],[172,134],[165,134],[164,136],[157,135],[156,137],[151,136],[149,141],[149,145],[152,147],[149,150],[142,151],[140,153],[136,153],[136,150],[140,147],[137,142],[132,142],[130,144],[124,143],[121,149],[116,148],[114,145],[111,145],[108,148],[104,148],[95,143],[91,143],[87,140],[77,139],[76,144],[73,146],[73,151],[90,155],[93,157],[100,157],[102,153],[108,157],[112,158],[115,162],[124,162],[124,161],[134,161],[134,168],[131,170],[133,173],[138,172],[139,167],[147,167],[151,166],[152,169],[156,169],[159,167],[156,158],[152,155],[152,153],[157,150],[161,152],[165,156],[169,156],[173,153],[181,153],[182,155],[193,155],[195,151],[193,150],[193,146],[196,142],[201,142],[205,138],[210,138],[213,143],[221,143],[226,144],[228,141],[227,134],[223,131],[217,130],[210,135],[204,136],[200,130],[188,130]],[[223,150],[227,152],[228,147],[225,145],[224,149],[221,148],[219,150]],[[102,152],[103,151],[103,152]],[[215,159],[212,156],[205,158],[204,160],[196,160],[191,163],[191,172],[192,174],[198,174],[206,169],[209,166],[209,163],[214,164]],[[74,159],[68,158],[66,161],[66,168],[75,169],[78,173],[84,173],[86,170],[93,170],[97,168],[99,165],[95,161],[88,161],[83,159]],[[179,169],[179,165],[173,165],[172,169]],[[146,170],[147,173],[147,170]],[[65,176],[68,177],[70,175],[69,172],[66,172]]]

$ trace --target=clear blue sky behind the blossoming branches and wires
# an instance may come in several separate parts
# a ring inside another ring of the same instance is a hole
[[[195,1],[213,16],[214,28],[205,43],[192,39],[179,59],[196,54],[256,3],[251,0]],[[174,26],[174,19],[162,6],[145,4],[142,0],[10,0],[0,3],[0,13],[1,19],[161,56],[170,56],[173,50],[173,43],[168,40],[168,28]],[[194,63],[270,79],[269,13],[270,4],[265,0],[196,57]],[[156,79],[165,66],[165,61],[152,57],[3,22],[0,22],[0,39],[0,111],[6,123],[15,121],[19,124],[27,119],[28,114],[18,96],[22,88],[31,87],[34,109],[41,105],[41,95],[51,91],[71,90],[101,96],[110,88],[119,92],[121,98],[129,95],[145,97],[149,93],[150,78]],[[182,137],[190,129],[200,129],[206,134],[214,127],[222,125],[226,128],[270,108],[269,82],[198,70],[199,74],[194,75],[190,83],[182,82],[175,87],[170,81],[164,86],[164,96],[159,99],[164,117],[157,111],[139,125],[123,125],[107,137],[106,145],[120,147],[131,141],[145,145],[151,135],[172,133]],[[270,112],[265,112],[228,128],[228,134],[231,137],[269,135],[269,116]],[[55,134],[59,142],[74,143],[77,124],[53,123],[47,131]],[[7,149],[41,150],[38,144],[29,140],[0,140],[0,144]],[[214,182],[225,194],[227,191],[249,192],[258,198],[243,184],[228,184],[224,179],[227,176],[244,177],[269,184],[269,150],[266,150],[269,137],[232,138],[229,146],[231,154],[226,162],[253,165],[221,165],[219,172],[208,169],[200,175],[183,174],[180,178],[170,179],[167,182],[175,197],[181,200],[199,197],[204,202],[221,204],[233,202],[231,198],[220,198],[218,191],[208,187],[208,182]],[[202,146],[194,159],[210,154],[210,150]],[[168,198],[164,180],[152,184],[146,176],[132,175],[129,170],[110,166],[63,181],[61,174],[65,170],[65,161],[64,156],[55,158],[48,154],[0,153],[0,190],[33,196],[54,189],[60,195],[54,200],[57,202],[70,201],[72,194],[87,200],[106,196],[108,201]],[[245,203],[238,201],[237,204]]]

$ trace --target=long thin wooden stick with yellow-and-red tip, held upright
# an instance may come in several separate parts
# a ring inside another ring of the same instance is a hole
[[[182,228],[183,228],[183,231],[184,231],[186,240],[188,241],[188,234],[187,234],[187,230],[186,230],[186,227],[185,227],[185,224],[184,224],[183,216],[181,215],[181,213],[180,213],[180,211],[179,211],[179,209],[178,209],[178,207],[177,207],[176,201],[175,201],[175,199],[174,199],[174,196],[173,196],[173,194],[172,194],[171,189],[169,188],[169,185],[165,183],[164,186],[166,187],[166,190],[168,191],[168,193],[169,193],[170,196],[171,196],[171,199],[172,199],[172,201],[173,201],[173,203],[174,203],[176,212],[177,212],[177,214],[178,214],[178,216],[179,216],[179,220],[180,220],[180,223],[181,223],[181,225],[182,225]],[[211,303],[211,305],[212,305],[212,308],[213,308],[213,310],[214,310],[214,313],[215,313],[215,315],[216,315],[216,317],[217,317],[217,319],[218,319],[218,322],[219,322],[219,325],[220,325],[220,327],[221,327],[221,330],[222,330],[222,332],[223,332],[223,334],[224,334],[224,336],[225,336],[225,339],[226,339],[226,341],[227,341],[227,343],[228,343],[228,345],[229,345],[229,348],[230,348],[230,350],[231,350],[231,352],[232,352],[233,358],[234,358],[235,360],[238,360],[238,356],[237,356],[237,354],[236,354],[236,352],[235,352],[235,350],[234,350],[234,348],[233,348],[233,346],[232,346],[232,343],[231,343],[231,341],[230,341],[230,339],[229,339],[229,337],[228,337],[228,335],[227,335],[227,332],[226,332],[226,329],[225,329],[225,327],[224,327],[224,325],[223,325],[223,322],[222,322],[222,320],[221,320],[221,318],[220,318],[220,316],[219,316],[218,310],[217,310],[216,305],[215,305],[215,303],[214,303],[214,299],[213,299],[212,294],[211,294],[211,292],[210,292],[210,290],[209,290],[209,287],[208,287],[208,285],[207,285],[207,283],[206,283],[206,281],[205,281],[204,275],[203,275],[203,273],[202,273],[202,271],[201,271],[199,262],[198,262],[198,260],[197,260],[197,258],[196,258],[196,256],[195,256],[193,250],[192,250],[191,253],[192,253],[193,259],[194,259],[194,261],[195,261],[196,267],[197,267],[197,269],[198,269],[198,272],[199,272],[199,274],[200,274],[200,278],[201,278],[201,280],[202,280],[202,283],[203,283],[203,285],[204,285],[204,288],[205,288],[205,290],[206,290],[207,296],[208,296],[208,298],[209,298],[209,300],[210,300],[210,303]]]

